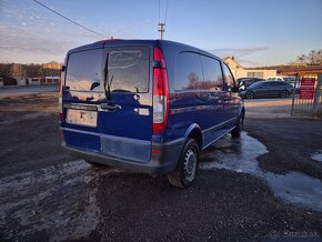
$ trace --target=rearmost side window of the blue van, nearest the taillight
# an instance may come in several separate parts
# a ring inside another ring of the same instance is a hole
[[[200,89],[203,79],[199,54],[179,53],[174,71],[174,90]]]

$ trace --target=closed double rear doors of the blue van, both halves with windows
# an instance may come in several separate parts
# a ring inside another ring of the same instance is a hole
[[[62,87],[68,147],[133,162],[150,160],[150,52],[145,46],[69,54]]]

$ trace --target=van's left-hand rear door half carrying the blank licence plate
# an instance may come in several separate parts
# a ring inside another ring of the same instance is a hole
[[[100,151],[98,104],[102,99],[102,49],[68,54],[62,85],[62,127],[70,148]]]

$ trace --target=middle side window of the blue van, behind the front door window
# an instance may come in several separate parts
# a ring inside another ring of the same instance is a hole
[[[215,59],[200,56],[203,70],[202,89],[221,91],[223,85],[220,62]]]

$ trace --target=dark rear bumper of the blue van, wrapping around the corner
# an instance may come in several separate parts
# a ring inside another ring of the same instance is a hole
[[[109,157],[91,150],[79,150],[68,147],[64,142],[61,145],[72,155],[88,160],[90,162],[124,169],[131,172],[164,174],[173,171],[184,144],[184,139],[178,139],[165,143],[152,142],[152,150],[160,153],[151,153],[151,159],[147,163],[140,163],[128,159]]]

